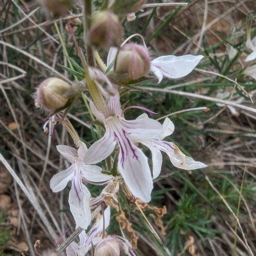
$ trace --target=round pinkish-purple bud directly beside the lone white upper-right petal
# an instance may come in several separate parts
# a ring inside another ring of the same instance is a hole
[[[126,44],[116,55],[116,73],[127,74],[128,79],[139,79],[150,70],[148,50],[139,44]]]

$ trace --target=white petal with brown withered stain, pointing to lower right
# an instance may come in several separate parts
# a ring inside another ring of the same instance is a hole
[[[168,154],[170,161],[177,168],[184,170],[195,170],[207,167],[206,164],[197,162],[193,160],[192,157],[188,157],[185,154],[183,154],[180,151],[180,148],[178,148],[177,145],[175,145],[172,142],[167,142],[164,140],[154,140],[154,143],[158,146],[160,150]]]

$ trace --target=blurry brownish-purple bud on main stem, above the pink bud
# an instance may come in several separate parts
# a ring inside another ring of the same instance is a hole
[[[109,11],[96,12],[91,20],[89,43],[105,49],[117,46],[122,38],[122,25],[118,17]]]

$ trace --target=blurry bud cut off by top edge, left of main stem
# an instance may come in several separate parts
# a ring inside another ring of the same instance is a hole
[[[61,16],[76,3],[76,0],[41,0],[41,3],[53,16]]]

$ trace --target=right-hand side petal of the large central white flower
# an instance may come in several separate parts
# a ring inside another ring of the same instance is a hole
[[[119,119],[123,129],[132,141],[149,140],[156,137],[162,131],[162,125],[154,119],[143,116],[140,119]]]

